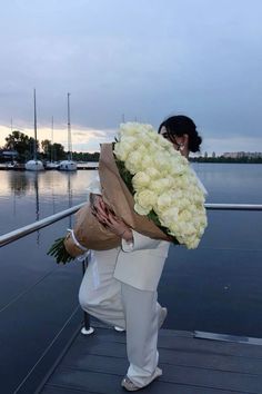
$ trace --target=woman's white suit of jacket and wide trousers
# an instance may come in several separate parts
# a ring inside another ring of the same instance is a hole
[[[90,191],[99,194],[98,180]],[[91,253],[79,290],[84,311],[127,331],[128,376],[139,387],[153,380],[158,366],[157,288],[169,245],[133,230],[133,244]]]

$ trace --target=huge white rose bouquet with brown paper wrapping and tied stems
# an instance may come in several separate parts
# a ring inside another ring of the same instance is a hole
[[[187,158],[150,125],[120,126],[114,144],[103,144],[99,161],[107,207],[134,230],[196,248],[206,227],[204,193]],[[107,250],[121,244],[91,214],[89,203],[75,225],[49,254],[66,263],[87,249]],[[62,248],[62,249],[61,249]]]

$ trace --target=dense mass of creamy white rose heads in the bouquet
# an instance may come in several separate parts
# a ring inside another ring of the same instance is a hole
[[[203,190],[188,159],[152,126],[137,122],[121,125],[113,151],[131,174],[134,210],[155,220],[179,244],[195,248],[206,215]]]

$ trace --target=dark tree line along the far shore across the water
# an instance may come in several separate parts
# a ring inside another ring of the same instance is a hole
[[[41,151],[39,148],[41,146]],[[33,157],[34,147],[37,150],[37,157],[43,161],[60,161],[68,158],[69,152],[64,150],[61,144],[52,144],[49,139],[39,141],[34,138],[24,135],[19,130],[14,130],[6,137],[6,145],[0,148],[6,151],[16,151],[16,160],[18,162],[26,162]],[[99,161],[99,152],[72,152],[72,159],[75,161]],[[0,161],[4,161],[7,158],[0,155]],[[205,152],[203,156],[195,156],[190,158],[191,161],[198,162],[243,162],[243,164],[262,164],[262,156],[250,156],[241,155],[240,157],[229,157],[229,156],[208,156]]]

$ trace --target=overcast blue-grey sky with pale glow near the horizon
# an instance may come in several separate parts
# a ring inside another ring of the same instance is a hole
[[[0,146],[12,129],[99,150],[184,114],[202,151],[262,151],[261,0],[1,0]]]

